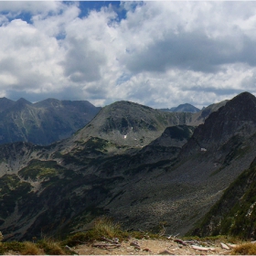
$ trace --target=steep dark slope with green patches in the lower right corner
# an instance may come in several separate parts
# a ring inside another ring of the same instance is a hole
[[[197,236],[231,235],[255,240],[256,161],[251,163],[226,190],[219,201],[190,234]]]

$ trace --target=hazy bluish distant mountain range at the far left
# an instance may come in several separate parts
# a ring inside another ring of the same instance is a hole
[[[89,123],[101,108],[89,101],[0,99],[0,144],[18,141],[51,144]]]

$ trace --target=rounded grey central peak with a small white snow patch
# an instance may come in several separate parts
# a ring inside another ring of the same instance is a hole
[[[185,124],[191,116],[189,112],[160,112],[138,103],[116,101],[102,108],[71,140],[99,137],[114,144],[142,147],[159,137],[166,127]]]

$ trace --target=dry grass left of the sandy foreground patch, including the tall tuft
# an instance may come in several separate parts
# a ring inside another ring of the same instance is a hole
[[[70,249],[71,246],[92,242],[93,240],[101,240],[102,238],[122,241],[128,240],[131,236],[140,239],[144,237],[144,234],[143,232],[123,231],[119,224],[113,223],[111,219],[103,217],[95,220],[92,229],[85,232],[78,232],[65,240],[54,240],[49,238],[37,240],[34,238],[33,241],[1,242],[1,239],[4,239],[4,237],[1,237],[0,235],[0,254],[11,252],[12,254],[18,253],[22,255],[73,255],[75,252]],[[153,234],[150,236],[157,237],[157,235]]]

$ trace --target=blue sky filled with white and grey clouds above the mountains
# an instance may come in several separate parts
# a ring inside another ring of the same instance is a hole
[[[256,2],[0,1],[0,97],[198,108],[256,95]]]

